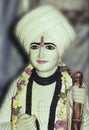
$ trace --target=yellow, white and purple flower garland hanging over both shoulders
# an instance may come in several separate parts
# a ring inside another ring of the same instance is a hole
[[[25,71],[22,73],[21,77],[17,82],[17,93],[12,97],[12,119],[11,119],[11,127],[12,130],[17,129],[18,116],[20,113],[20,109],[22,108],[22,100],[24,94],[24,88],[28,84],[29,78],[32,74],[32,65],[29,65]],[[62,80],[62,88],[61,94],[59,95],[59,103],[57,110],[56,123],[54,124],[54,128],[56,130],[67,130],[67,93],[71,89],[72,86],[72,78],[70,77],[66,66],[60,66],[61,71],[61,80]]]

